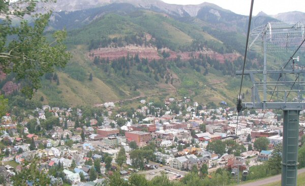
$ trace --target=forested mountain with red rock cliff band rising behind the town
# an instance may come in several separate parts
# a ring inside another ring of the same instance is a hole
[[[34,100],[75,106],[190,97],[235,104],[240,83],[235,70],[242,68],[247,16],[208,3],[58,0],[52,6],[56,12],[46,34],[66,28],[73,58],[64,69],[42,78]],[[255,16],[252,27],[269,21],[278,20]],[[261,54],[249,53],[248,58],[246,69],[261,66]],[[270,56],[271,61],[279,58]],[[12,76],[0,81],[2,91],[18,90],[13,81]],[[246,78],[244,85],[249,99],[250,80]]]

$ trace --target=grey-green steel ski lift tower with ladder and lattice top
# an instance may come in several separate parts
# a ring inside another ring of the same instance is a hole
[[[294,85],[298,85],[297,87],[305,85],[305,81],[300,81],[300,75],[305,73],[305,67],[297,67],[295,62],[297,63],[299,58],[291,57],[289,63],[284,67],[278,70],[268,70],[267,53],[291,52],[293,54],[305,39],[304,29],[305,26],[301,22],[269,22],[251,31],[249,45],[247,46],[248,51],[262,52],[264,61],[262,70],[244,71],[245,75],[250,75],[253,87],[251,102],[242,102],[241,105],[242,109],[283,110],[282,186],[296,186],[299,111],[305,109],[305,102],[301,100],[304,89],[294,90],[292,87]],[[302,45],[298,51],[305,51],[305,47]],[[241,75],[242,71],[236,71],[236,74]],[[257,82],[257,79],[254,78],[258,74],[262,74],[262,81]],[[268,82],[267,75],[271,74],[278,74],[279,81]],[[295,76],[295,81],[287,80],[288,76]],[[290,94],[290,92],[293,93]],[[277,96],[276,102],[267,100],[267,96],[270,99],[270,94],[273,96],[275,93]],[[297,95],[297,98],[293,99],[292,95]]]

